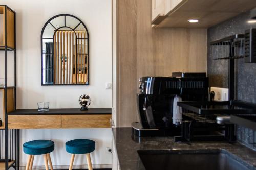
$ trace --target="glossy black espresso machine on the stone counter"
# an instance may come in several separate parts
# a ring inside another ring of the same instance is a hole
[[[182,110],[179,101],[207,101],[205,73],[174,72],[172,77],[139,79],[137,105],[140,122],[133,122],[136,136],[176,136],[181,134]]]

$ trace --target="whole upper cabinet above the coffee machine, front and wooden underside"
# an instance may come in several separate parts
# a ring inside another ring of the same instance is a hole
[[[254,7],[255,0],[152,0],[152,27],[209,28]]]

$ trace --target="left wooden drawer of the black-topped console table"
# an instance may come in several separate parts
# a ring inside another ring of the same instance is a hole
[[[61,128],[61,115],[9,115],[8,129]]]

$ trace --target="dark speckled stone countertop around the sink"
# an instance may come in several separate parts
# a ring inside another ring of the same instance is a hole
[[[237,160],[242,160],[256,168],[256,151],[238,142],[177,143],[174,142],[173,137],[142,137],[138,142],[138,138],[132,136],[132,128],[112,128],[112,132],[121,170],[145,170],[137,153],[138,150],[208,150],[211,152],[211,150],[222,149],[238,158]],[[243,162],[241,163],[244,164]]]

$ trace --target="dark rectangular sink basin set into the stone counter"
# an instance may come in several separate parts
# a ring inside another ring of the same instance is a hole
[[[146,170],[256,170],[225,150],[138,150]]]

